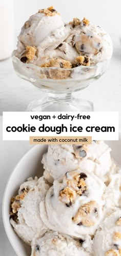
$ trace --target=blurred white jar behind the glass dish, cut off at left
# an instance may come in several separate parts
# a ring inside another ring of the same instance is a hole
[[[13,0],[0,0],[0,60],[9,58],[14,49]]]

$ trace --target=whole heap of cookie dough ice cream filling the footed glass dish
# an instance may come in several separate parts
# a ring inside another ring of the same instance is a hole
[[[112,49],[112,41],[104,29],[86,18],[74,18],[65,24],[51,6],[39,10],[25,22],[13,55],[23,63],[45,68],[43,78],[66,79],[73,78],[73,68],[88,68],[110,60]],[[56,72],[52,67],[57,68]]]

